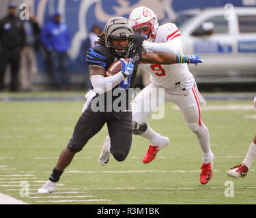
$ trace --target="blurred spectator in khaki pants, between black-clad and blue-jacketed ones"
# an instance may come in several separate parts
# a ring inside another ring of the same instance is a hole
[[[38,49],[40,27],[35,19],[35,16],[30,16],[29,20],[24,20],[23,24],[26,33],[27,50],[21,56],[20,61],[20,89],[22,91],[30,91],[32,85],[32,76],[37,70],[35,50]]]

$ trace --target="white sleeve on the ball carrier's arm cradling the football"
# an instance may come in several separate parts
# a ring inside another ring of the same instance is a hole
[[[91,85],[96,93],[105,93],[113,89],[117,84],[124,80],[124,75],[119,72],[113,76],[104,77],[102,75],[91,76]]]

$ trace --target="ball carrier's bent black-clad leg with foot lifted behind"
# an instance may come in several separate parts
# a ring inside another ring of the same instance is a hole
[[[109,156],[112,154],[117,161],[124,161],[132,144],[132,113],[112,112],[111,118],[106,123],[109,130],[109,136],[106,138],[106,144],[104,143],[104,146],[106,146],[105,151]],[[106,163],[107,161],[105,164]],[[100,163],[101,166],[104,166],[105,164],[102,162]]]

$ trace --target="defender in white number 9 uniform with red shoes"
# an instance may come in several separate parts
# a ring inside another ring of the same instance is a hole
[[[158,25],[156,14],[147,7],[137,7],[132,10],[129,20],[135,32],[147,35],[143,48],[147,52],[171,52],[182,54],[182,40],[180,30],[173,23]],[[141,63],[144,71],[150,73],[151,84],[143,89],[132,104],[133,132],[147,138],[152,142],[143,157],[143,163],[149,163],[156,157],[156,153],[169,144],[169,138],[157,134],[147,123],[147,118],[156,110],[151,107],[152,97],[154,102],[160,102],[160,88],[165,90],[165,102],[174,102],[182,112],[188,128],[193,131],[199,140],[203,153],[200,182],[206,184],[212,178],[212,164],[214,155],[210,149],[210,136],[208,128],[201,119],[200,102],[205,99],[197,90],[197,84],[188,65],[160,65]],[[156,95],[152,95],[156,93]],[[161,105],[158,104],[158,108]],[[143,108],[144,107],[144,108]],[[145,111],[147,108],[147,111]]]

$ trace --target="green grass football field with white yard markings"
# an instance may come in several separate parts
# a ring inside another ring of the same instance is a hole
[[[245,179],[227,177],[227,170],[244,159],[256,133],[252,100],[208,100],[206,108],[202,106],[215,155],[214,174],[207,185],[199,183],[197,138],[180,111],[168,103],[165,119],[149,119],[156,131],[171,140],[152,163],[142,163],[149,142],[134,136],[124,162],[111,158],[106,166],[99,166],[107,136],[104,126],[76,154],[56,193],[38,196],[36,190],[48,180],[72,136],[83,103],[0,101],[1,193],[29,204],[256,204],[256,163]],[[20,181],[28,182],[29,196],[20,197]],[[226,181],[234,184],[233,197],[225,197]]]

